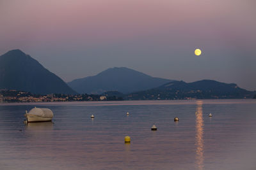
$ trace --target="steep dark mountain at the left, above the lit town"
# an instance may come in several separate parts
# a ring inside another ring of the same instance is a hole
[[[0,89],[15,89],[35,94],[76,94],[58,76],[20,50],[0,56]]]

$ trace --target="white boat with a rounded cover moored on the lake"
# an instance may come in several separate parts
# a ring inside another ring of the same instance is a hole
[[[26,111],[24,115],[27,119],[27,122],[46,122],[51,121],[53,113],[47,108],[33,108],[29,112]]]

